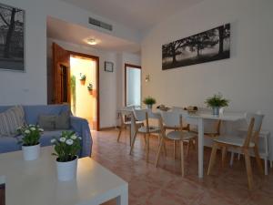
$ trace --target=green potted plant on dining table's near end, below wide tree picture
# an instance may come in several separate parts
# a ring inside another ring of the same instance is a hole
[[[224,98],[221,93],[215,94],[213,97],[208,97],[205,103],[207,108],[212,108],[213,115],[219,115],[219,109],[228,106],[229,100]]]

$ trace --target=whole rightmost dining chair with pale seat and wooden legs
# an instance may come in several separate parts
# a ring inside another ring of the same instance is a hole
[[[245,164],[247,169],[248,176],[248,189],[252,190],[253,188],[253,175],[250,163],[249,151],[252,149],[255,153],[255,158],[258,163],[258,169],[261,174],[263,174],[263,166],[261,159],[258,153],[258,136],[262,125],[262,120],[264,116],[259,114],[253,114],[248,125],[248,132],[245,138],[240,138],[238,136],[227,136],[220,135],[217,138],[214,138],[214,143],[209,159],[209,165],[207,169],[207,175],[211,173],[211,170],[215,164],[217,149],[222,148],[222,163],[225,162],[225,157],[227,155],[228,148],[241,149],[241,152],[245,156]]]

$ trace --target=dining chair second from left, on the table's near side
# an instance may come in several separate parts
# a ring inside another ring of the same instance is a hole
[[[146,159],[148,161],[149,157],[149,138],[151,134],[158,134],[159,138],[162,138],[162,131],[163,131],[163,124],[162,124],[162,118],[159,113],[152,113],[150,110],[147,109],[135,109],[134,114],[132,115],[133,123],[135,126],[135,133],[132,141],[132,146],[130,149],[130,155],[132,155],[135,142],[136,142],[136,136],[138,133],[143,134],[145,142],[146,142]],[[139,121],[142,121],[143,124],[137,124],[136,118]],[[149,119],[157,119],[158,126],[151,126]]]

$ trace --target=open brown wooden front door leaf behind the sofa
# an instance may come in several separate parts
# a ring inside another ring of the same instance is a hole
[[[70,103],[70,54],[56,43],[53,54],[53,104]]]

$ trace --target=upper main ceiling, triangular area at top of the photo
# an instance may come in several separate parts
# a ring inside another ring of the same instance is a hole
[[[63,0],[116,23],[145,32],[151,26],[204,0]]]

